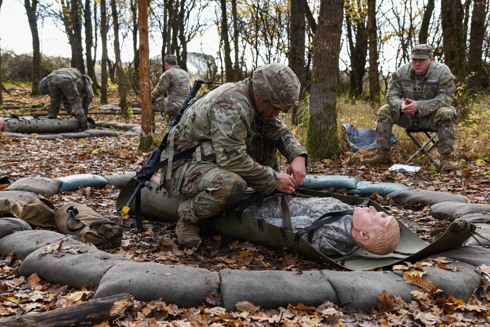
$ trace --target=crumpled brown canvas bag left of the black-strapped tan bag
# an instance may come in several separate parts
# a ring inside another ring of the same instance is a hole
[[[30,226],[56,228],[54,224],[56,209],[47,199],[33,198],[27,202],[15,201],[12,204],[12,213]]]

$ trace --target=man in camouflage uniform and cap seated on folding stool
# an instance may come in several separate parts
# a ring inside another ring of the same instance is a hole
[[[388,104],[379,109],[376,124],[378,153],[364,163],[385,165],[390,162],[390,137],[392,126],[396,124],[407,129],[437,129],[440,169],[453,171],[451,152],[454,151],[457,121],[456,109],[451,106],[456,92],[454,75],[446,65],[434,61],[429,45],[415,46],[410,59],[412,62],[398,68],[388,83]]]

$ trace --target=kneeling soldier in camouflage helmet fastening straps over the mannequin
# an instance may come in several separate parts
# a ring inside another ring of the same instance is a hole
[[[199,221],[238,203],[247,187],[291,194],[303,184],[306,150],[279,116],[297,105],[299,89],[289,67],[268,64],[252,78],[223,84],[191,102],[161,156],[198,146],[192,158],[169,162],[160,172],[160,184],[184,201],[175,228],[179,242],[196,246]],[[289,162],[287,173],[278,171],[278,150]]]

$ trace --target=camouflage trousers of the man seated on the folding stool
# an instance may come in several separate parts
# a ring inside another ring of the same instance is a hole
[[[418,118],[418,129],[437,129],[439,142],[437,151],[441,154],[454,151],[456,141],[457,113],[454,107],[441,107],[430,116]],[[393,110],[392,106],[385,104],[378,111],[376,123],[376,149],[390,151],[390,138],[394,124],[403,128],[415,128],[414,115],[406,115]]]

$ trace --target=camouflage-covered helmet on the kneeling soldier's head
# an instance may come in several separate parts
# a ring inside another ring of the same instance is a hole
[[[252,83],[257,98],[269,101],[282,112],[287,113],[299,103],[299,79],[286,65],[267,64],[258,67],[253,72]]]

